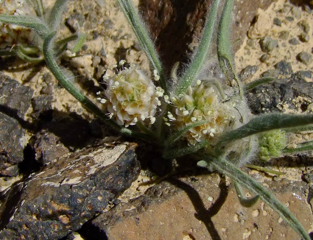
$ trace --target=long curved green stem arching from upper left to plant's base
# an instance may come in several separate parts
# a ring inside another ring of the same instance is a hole
[[[128,128],[124,128],[118,125],[113,120],[108,119],[108,117],[102,110],[100,110],[92,101],[90,101],[84,94],[82,94],[71,81],[69,81],[69,79],[64,75],[63,71],[57,64],[57,62],[54,60],[54,54],[51,51],[52,48],[51,40],[54,37],[55,33],[56,32],[52,32],[51,34],[48,35],[46,39],[44,39],[43,52],[47,66],[49,67],[53,75],[56,77],[56,79],[58,79],[60,85],[63,86],[77,100],[79,100],[80,103],[82,103],[88,110],[94,113],[101,120],[105,120],[106,123],[110,124],[111,127],[120,131],[122,134],[132,137],[138,137],[143,140],[151,140],[151,138],[146,134],[134,132]]]

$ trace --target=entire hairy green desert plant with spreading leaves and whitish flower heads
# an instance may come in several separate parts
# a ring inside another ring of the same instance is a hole
[[[126,67],[125,61],[121,60],[119,68],[115,65],[111,74],[105,73],[106,88],[97,93],[104,110],[77,89],[56,61],[63,45],[72,40],[71,37],[58,42],[54,40],[60,9],[66,0],[58,0],[47,18],[40,0],[29,2],[37,17],[1,14],[0,21],[30,28],[37,33],[34,47],[42,53],[59,83],[87,109],[122,134],[154,144],[161,149],[164,159],[189,154],[199,160],[199,166],[229,176],[241,203],[250,206],[261,198],[302,239],[310,240],[294,215],[275,196],[239,169],[255,155],[261,160],[268,160],[282,152],[313,149],[312,142],[300,144],[296,149],[285,149],[285,131],[313,130],[313,115],[251,114],[245,94],[249,89],[273,79],[262,78],[246,86],[240,82],[233,66],[229,42],[233,0],[226,0],[219,24],[217,13],[221,3],[220,0],[212,2],[203,27],[203,37],[190,64],[179,74],[179,63],[175,64],[170,76],[166,75],[150,34],[131,1],[117,0],[150,60],[154,81],[136,66],[130,64]],[[224,78],[209,76],[204,71],[208,57],[212,57],[215,28],[218,31],[218,62]],[[21,47],[24,55],[32,57],[25,49],[33,46],[25,43],[16,46]],[[3,51],[4,54],[7,52]],[[29,61],[27,57],[22,58]],[[241,186],[256,196],[244,198]]]

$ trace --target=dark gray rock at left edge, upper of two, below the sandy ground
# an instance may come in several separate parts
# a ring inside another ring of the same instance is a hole
[[[33,90],[0,73],[0,107],[24,119],[30,106]]]

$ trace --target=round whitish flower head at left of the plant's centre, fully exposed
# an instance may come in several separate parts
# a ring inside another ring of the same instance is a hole
[[[106,83],[106,107],[119,125],[135,125],[145,119],[150,119],[151,124],[155,121],[159,96],[153,82],[141,70],[124,68],[109,76]]]

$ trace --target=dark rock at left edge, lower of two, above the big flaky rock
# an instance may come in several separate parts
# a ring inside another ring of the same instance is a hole
[[[21,138],[24,134],[18,120],[0,112],[0,175],[17,176],[14,165],[23,161]]]

